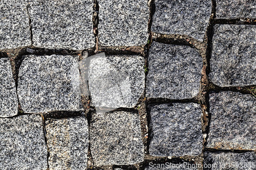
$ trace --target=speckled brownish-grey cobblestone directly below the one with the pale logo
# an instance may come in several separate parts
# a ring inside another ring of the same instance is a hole
[[[142,162],[144,146],[139,114],[126,111],[94,113],[90,125],[90,149],[96,166]]]

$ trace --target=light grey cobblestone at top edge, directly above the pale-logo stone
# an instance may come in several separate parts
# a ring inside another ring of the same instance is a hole
[[[99,43],[135,46],[147,43],[150,16],[146,0],[99,0]]]

